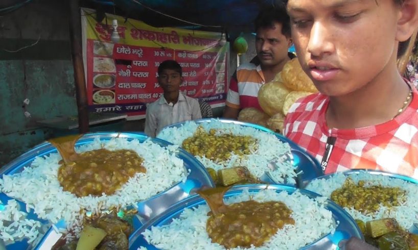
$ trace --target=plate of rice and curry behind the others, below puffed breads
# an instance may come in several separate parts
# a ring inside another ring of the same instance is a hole
[[[257,124],[199,119],[168,126],[157,138],[194,155],[215,183],[286,183],[304,186],[323,174],[312,156],[273,131]]]

